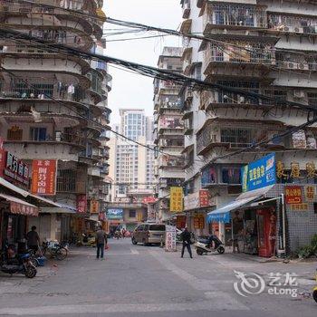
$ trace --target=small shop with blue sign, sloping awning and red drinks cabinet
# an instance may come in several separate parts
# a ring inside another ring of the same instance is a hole
[[[210,212],[208,222],[225,224],[225,241],[231,241],[236,252],[270,257],[275,255],[279,239],[278,250],[285,253],[285,227],[277,222],[281,219],[284,224],[285,217],[283,195],[274,191],[274,154],[242,168],[242,178],[244,193]]]

